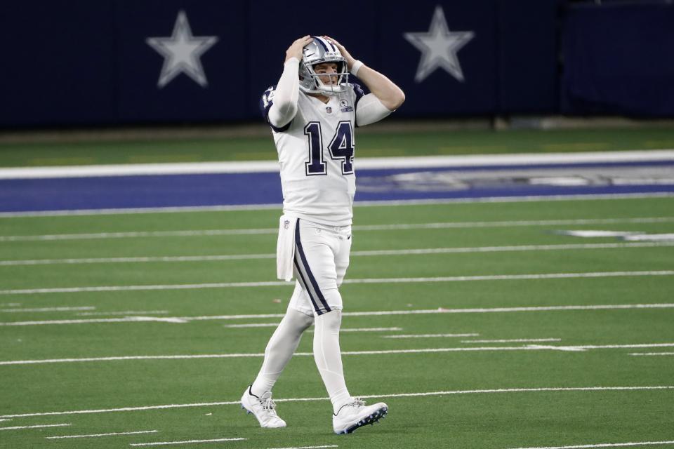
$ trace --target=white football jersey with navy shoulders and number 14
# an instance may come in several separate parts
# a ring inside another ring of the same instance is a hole
[[[268,88],[260,102],[267,123],[274,90]],[[348,84],[327,103],[300,91],[293,120],[282,128],[270,123],[279,153],[284,213],[325,225],[351,224],[356,104],[362,96],[357,84]]]

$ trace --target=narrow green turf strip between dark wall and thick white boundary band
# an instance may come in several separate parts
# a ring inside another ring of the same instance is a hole
[[[260,126],[260,130],[264,131]],[[366,128],[367,129],[367,128]],[[403,132],[404,131],[404,132]],[[600,152],[674,148],[673,128],[590,130],[372,130],[357,136],[358,157]],[[256,161],[277,158],[271,133],[246,138],[0,140],[0,167],[102,163]]]

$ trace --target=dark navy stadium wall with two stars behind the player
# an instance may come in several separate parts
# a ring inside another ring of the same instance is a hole
[[[256,120],[303,34],[402,86],[398,117],[674,116],[666,0],[9,0],[0,127]]]

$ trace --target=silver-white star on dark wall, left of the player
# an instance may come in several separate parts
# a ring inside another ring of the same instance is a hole
[[[181,73],[190,76],[201,87],[208,86],[200,58],[217,41],[218,36],[192,36],[187,14],[185,11],[178,12],[171,37],[145,39],[147,45],[164,56],[164,66],[161,67],[157,87],[163,88]]]

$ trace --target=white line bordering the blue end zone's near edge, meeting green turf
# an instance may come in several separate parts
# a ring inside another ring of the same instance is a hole
[[[453,199],[411,199],[392,201],[356,201],[355,207],[376,206],[428,206],[454,203],[530,203],[546,201],[595,201],[619,199],[670,198],[672,192],[653,192],[635,194],[579,194],[579,195],[538,195],[538,196],[488,196],[484,198],[453,198]],[[22,212],[1,212],[0,218],[13,217],[59,217],[72,215],[131,215],[147,213],[198,213],[221,212],[230,210],[281,210],[282,204],[244,204],[234,206],[170,206],[148,208],[117,208],[117,209],[76,209],[76,210],[28,210]]]

